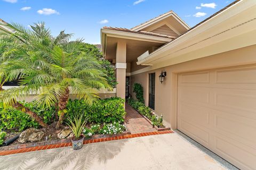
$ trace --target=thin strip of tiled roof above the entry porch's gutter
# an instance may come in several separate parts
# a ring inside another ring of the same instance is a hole
[[[163,35],[163,34],[154,33],[154,32],[147,32],[147,31],[132,31],[132,30],[127,29],[127,28],[103,27],[103,29],[115,30],[115,31],[123,31],[123,32],[130,32],[130,33],[137,33],[137,34],[147,35],[147,36],[155,36],[155,37],[173,39],[173,36]]]

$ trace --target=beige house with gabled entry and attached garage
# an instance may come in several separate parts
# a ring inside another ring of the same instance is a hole
[[[256,169],[256,1],[235,1],[190,28],[173,11],[132,29],[101,29],[116,96],[145,104],[241,169]],[[164,77],[160,81],[159,77]]]

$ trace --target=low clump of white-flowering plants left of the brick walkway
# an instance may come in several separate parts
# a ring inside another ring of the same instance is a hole
[[[125,126],[119,122],[114,122],[110,124],[104,124],[100,130],[101,134],[117,134],[122,133],[125,130]]]

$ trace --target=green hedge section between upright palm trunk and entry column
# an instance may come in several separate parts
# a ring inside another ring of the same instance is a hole
[[[89,118],[89,123],[97,124],[124,122],[126,113],[123,106],[124,99],[116,97],[99,100],[92,106],[86,105],[84,100],[75,99],[68,101],[67,115],[84,114]]]

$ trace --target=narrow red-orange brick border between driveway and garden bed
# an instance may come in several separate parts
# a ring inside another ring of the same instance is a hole
[[[89,143],[97,143],[97,142],[106,142],[106,141],[111,141],[111,140],[138,138],[138,137],[145,137],[145,136],[148,136],[148,135],[166,134],[166,133],[173,133],[173,131],[169,130],[169,131],[157,131],[157,132],[146,132],[146,133],[136,133],[136,134],[125,134],[125,135],[119,135],[119,136],[116,136],[116,137],[84,140],[83,143],[84,144],[89,144]],[[29,147],[29,148],[22,148],[21,147],[19,149],[0,151],[0,156],[11,155],[11,154],[19,154],[19,153],[31,152],[31,151],[37,151],[37,150],[46,150],[46,149],[70,147],[70,146],[72,146],[71,142],[63,142],[63,143],[56,143],[56,144],[51,144],[51,145],[36,146],[36,147]]]

